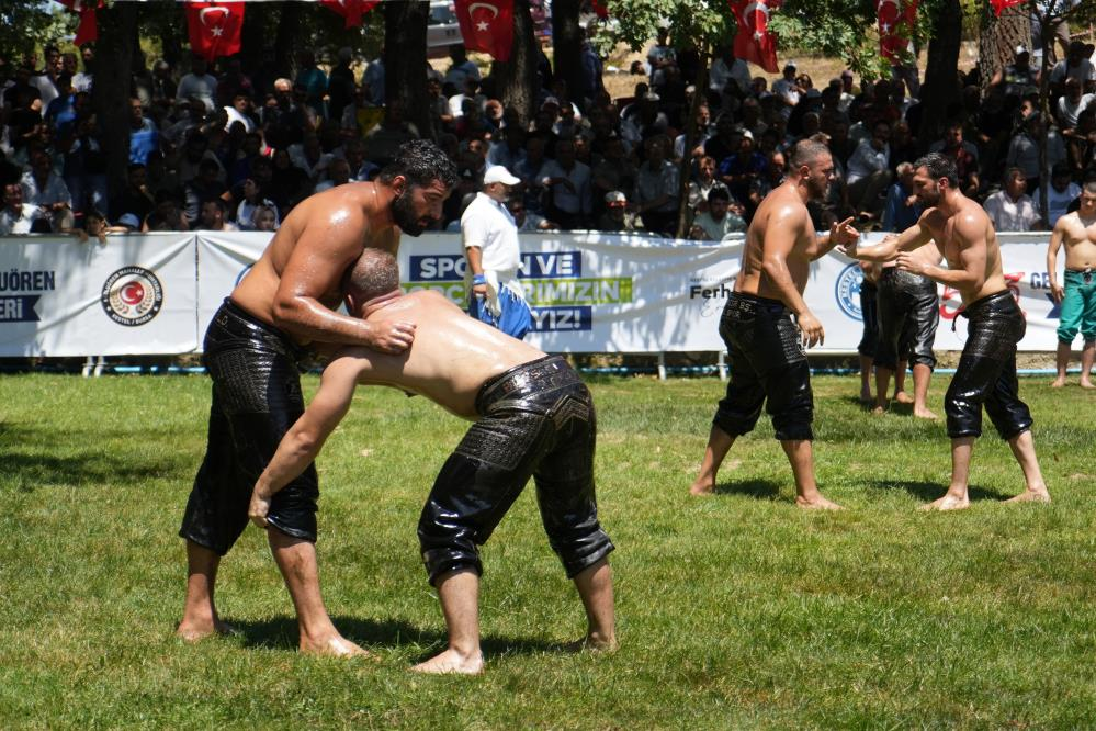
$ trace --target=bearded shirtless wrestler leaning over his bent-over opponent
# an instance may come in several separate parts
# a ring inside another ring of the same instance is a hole
[[[398,353],[411,344],[415,325],[408,320],[366,323],[334,312],[343,300],[343,273],[366,247],[395,251],[400,232],[422,233],[441,216],[455,181],[441,150],[413,142],[376,182],[313,195],[285,218],[214,315],[203,357],[213,378],[208,446],[179,530],[188,563],[181,638],[230,631],[214,605],[217,567],[247,526],[256,477],[304,412],[298,368],[306,346],[358,345]],[[271,551],[293,597],[302,652],[360,654],[361,648],[335,629],[320,597],[318,495],[309,466],[273,502]]]

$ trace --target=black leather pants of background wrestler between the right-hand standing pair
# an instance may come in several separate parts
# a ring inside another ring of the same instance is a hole
[[[897,267],[879,278],[879,346],[875,366],[895,370],[908,355],[911,366],[936,368],[933,344],[940,324],[936,282]]]

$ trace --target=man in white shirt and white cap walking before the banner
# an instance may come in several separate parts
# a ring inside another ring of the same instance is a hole
[[[532,313],[518,281],[518,226],[506,207],[510,187],[521,179],[500,165],[487,168],[483,191],[461,215],[467,259],[468,314],[516,338],[532,327]]]

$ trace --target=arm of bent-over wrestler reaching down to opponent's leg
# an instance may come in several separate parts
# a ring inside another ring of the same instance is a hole
[[[357,361],[349,357],[339,358],[325,369],[316,396],[282,437],[278,451],[255,483],[248,508],[248,517],[255,525],[267,527],[271,497],[313,463],[328,436],[347,415],[357,376]]]

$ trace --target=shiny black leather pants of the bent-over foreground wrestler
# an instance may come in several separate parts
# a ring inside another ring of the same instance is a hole
[[[567,577],[607,556],[613,544],[598,522],[594,491],[594,401],[566,361],[549,357],[489,380],[476,411],[482,418],[445,461],[419,517],[430,583],[464,569],[483,573],[476,547],[490,538],[530,475]]]

